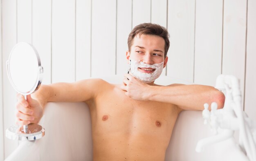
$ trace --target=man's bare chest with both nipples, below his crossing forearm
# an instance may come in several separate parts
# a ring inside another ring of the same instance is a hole
[[[136,101],[123,91],[100,96],[92,108],[92,125],[105,134],[171,136],[177,119],[174,106],[157,101]]]

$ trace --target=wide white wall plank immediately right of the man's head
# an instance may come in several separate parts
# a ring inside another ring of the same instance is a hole
[[[167,76],[193,82],[195,0],[168,1],[170,49]]]

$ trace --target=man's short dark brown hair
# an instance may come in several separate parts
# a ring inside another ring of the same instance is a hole
[[[129,34],[128,37],[128,49],[130,51],[130,48],[133,43],[134,37],[139,34],[139,37],[144,35],[157,35],[160,37],[163,37],[165,45],[164,45],[164,58],[167,55],[167,51],[170,47],[170,41],[169,41],[169,33],[167,29],[163,26],[160,26],[159,24],[153,24],[153,23],[143,23],[135,26],[132,31]]]

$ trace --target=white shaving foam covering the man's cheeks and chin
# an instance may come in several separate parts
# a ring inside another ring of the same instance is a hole
[[[155,71],[153,73],[142,73],[138,70],[138,68],[153,68],[155,69]],[[131,60],[130,62],[130,71],[132,75],[145,83],[155,81],[155,79],[157,79],[161,75],[163,68],[164,62],[153,65],[136,60]]]

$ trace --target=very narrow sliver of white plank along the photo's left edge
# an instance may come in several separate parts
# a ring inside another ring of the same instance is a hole
[[[0,3],[0,30],[2,31],[2,1]],[[0,161],[4,160],[4,114],[3,114],[3,63],[2,63],[2,32],[0,32]]]

